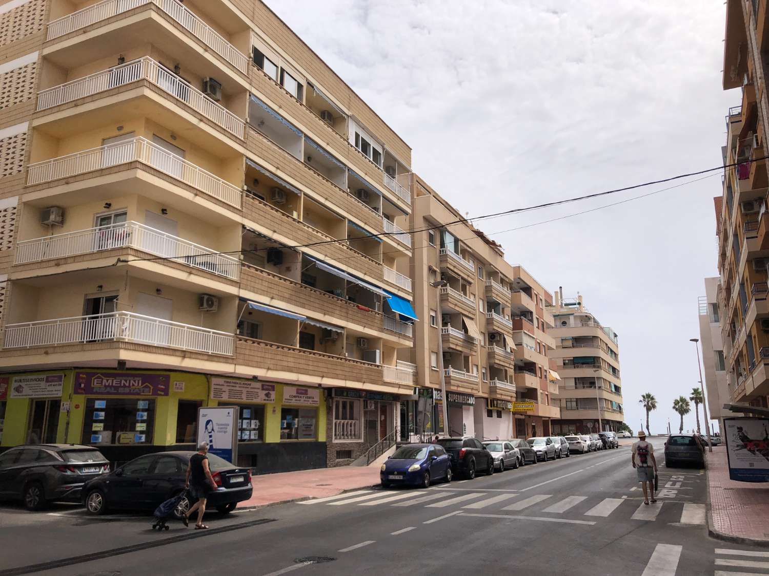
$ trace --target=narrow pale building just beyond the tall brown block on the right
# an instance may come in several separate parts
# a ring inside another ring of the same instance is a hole
[[[700,319],[707,413],[711,420],[718,421],[719,429],[723,430],[724,416],[731,415],[731,412],[724,410],[724,404],[731,400],[726,380],[724,343],[721,340],[721,310],[719,310],[716,296],[720,281],[721,278],[718,276],[705,278],[705,296],[699,297],[697,311]]]

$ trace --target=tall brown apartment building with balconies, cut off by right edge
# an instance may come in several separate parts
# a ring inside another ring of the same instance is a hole
[[[767,406],[769,307],[767,263],[766,2],[727,2],[724,90],[741,89],[726,116],[718,218],[717,304],[731,402]],[[731,166],[731,164],[736,164]]]

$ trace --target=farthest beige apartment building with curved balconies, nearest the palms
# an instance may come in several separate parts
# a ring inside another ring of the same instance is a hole
[[[554,434],[618,432],[624,422],[617,333],[603,326],[582,296],[564,298],[555,293],[548,306],[555,321],[555,359],[561,374],[561,419]]]

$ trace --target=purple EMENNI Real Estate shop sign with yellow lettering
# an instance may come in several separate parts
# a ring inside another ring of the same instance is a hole
[[[85,396],[168,396],[168,374],[75,372],[75,394]]]

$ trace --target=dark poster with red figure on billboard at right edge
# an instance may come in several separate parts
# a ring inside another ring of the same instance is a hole
[[[769,482],[769,419],[724,418],[729,478]]]

